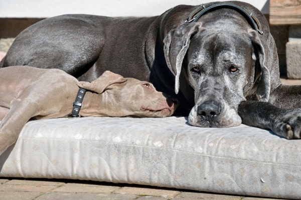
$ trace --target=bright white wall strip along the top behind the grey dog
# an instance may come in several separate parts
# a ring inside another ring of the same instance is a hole
[[[105,16],[154,16],[179,4],[198,5],[214,0],[0,0],[0,18],[46,18],[67,13]],[[241,0],[263,13],[269,0]]]

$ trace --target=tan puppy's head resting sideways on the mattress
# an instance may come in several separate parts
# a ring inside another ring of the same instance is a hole
[[[92,82],[80,81],[77,85],[103,96],[100,113],[108,116],[171,116],[178,100],[156,90],[152,83],[105,71]],[[95,110],[95,115],[98,110]]]

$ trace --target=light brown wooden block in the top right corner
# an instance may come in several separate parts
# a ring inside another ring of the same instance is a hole
[[[301,24],[301,1],[270,0],[269,22],[271,25]]]

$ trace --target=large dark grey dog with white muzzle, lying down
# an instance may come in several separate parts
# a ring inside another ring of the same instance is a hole
[[[280,82],[265,16],[225,1],[179,5],[160,16],[68,14],[21,32],[0,66],[60,68],[92,81],[105,70],[147,80],[180,100],[190,124],[241,122],[300,138],[301,86]]]

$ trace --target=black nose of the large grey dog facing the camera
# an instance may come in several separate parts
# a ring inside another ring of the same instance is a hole
[[[215,100],[207,100],[198,107],[198,114],[206,118],[214,118],[218,116],[220,112],[221,106]]]

